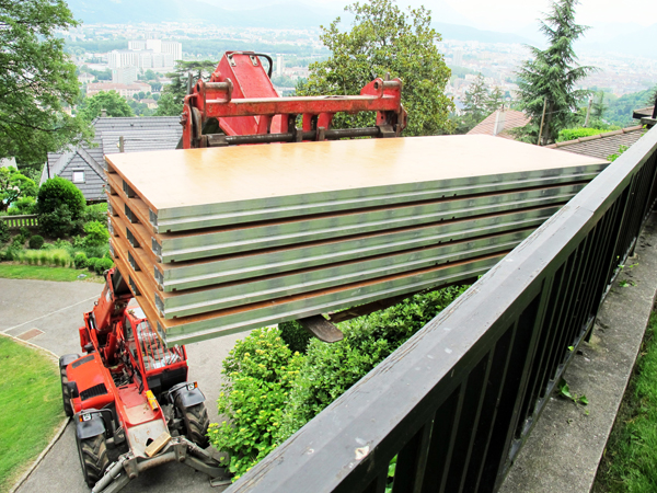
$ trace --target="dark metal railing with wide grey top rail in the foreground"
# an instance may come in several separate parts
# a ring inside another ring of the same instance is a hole
[[[235,492],[495,492],[634,248],[657,129],[415,336],[244,474]],[[388,484],[389,485],[389,484]]]

